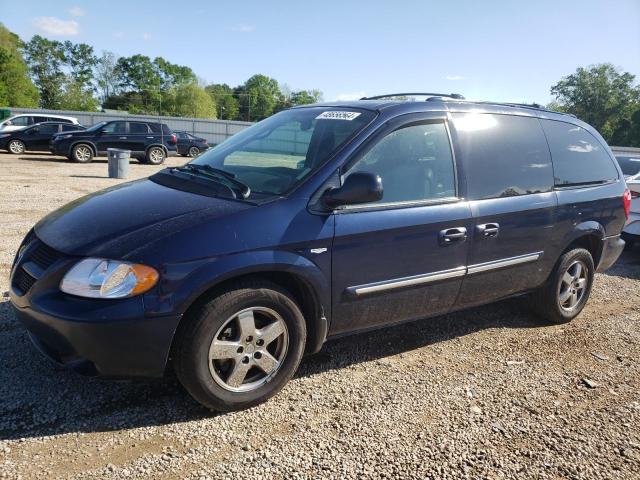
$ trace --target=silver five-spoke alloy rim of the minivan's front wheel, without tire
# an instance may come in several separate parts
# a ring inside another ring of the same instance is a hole
[[[209,372],[225,390],[248,392],[268,382],[287,355],[289,334],[282,316],[266,307],[228,318],[209,347]]]

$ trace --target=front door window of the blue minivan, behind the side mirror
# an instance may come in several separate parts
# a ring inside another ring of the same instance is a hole
[[[395,130],[368,150],[349,170],[382,178],[376,203],[412,202],[456,195],[453,156],[444,123]]]

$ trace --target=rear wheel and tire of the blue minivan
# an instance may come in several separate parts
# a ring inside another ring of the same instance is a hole
[[[544,285],[531,295],[532,309],[549,323],[570,322],[589,299],[594,271],[588,250],[575,248],[563,253]]]

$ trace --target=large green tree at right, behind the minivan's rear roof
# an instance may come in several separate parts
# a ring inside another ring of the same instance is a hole
[[[640,88],[635,76],[620,72],[610,63],[578,68],[551,87],[557,107],[596,128],[607,142],[616,137],[628,138],[632,115],[640,102]]]

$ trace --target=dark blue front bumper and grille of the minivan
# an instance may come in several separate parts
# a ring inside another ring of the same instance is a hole
[[[11,275],[10,300],[38,347],[59,365],[106,377],[164,374],[180,316],[150,316],[143,296],[102,300],[60,291],[76,259],[32,234]]]

